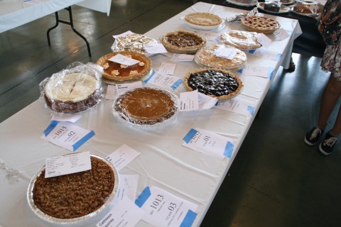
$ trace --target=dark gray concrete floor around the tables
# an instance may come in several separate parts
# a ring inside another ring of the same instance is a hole
[[[220,1],[207,1],[220,3]],[[50,33],[54,14],[0,34],[0,122],[38,99],[38,84],[70,62],[95,62],[110,52],[112,35],[124,31],[146,33],[193,1],[112,0],[110,16],[82,7],[72,8],[75,28]],[[60,12],[67,18],[67,12]],[[320,58],[293,54],[296,71],[282,69],[274,78],[225,177],[202,226],[341,226],[341,151],[325,157],[317,146],[303,143],[316,123],[320,94],[329,74]],[[335,119],[330,118],[330,125]]]

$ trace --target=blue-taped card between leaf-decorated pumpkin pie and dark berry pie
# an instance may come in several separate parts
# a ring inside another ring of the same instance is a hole
[[[153,74],[151,74],[151,76],[144,82],[156,85],[158,87],[175,90],[183,82],[183,79],[170,75],[159,74],[158,72],[153,72]]]

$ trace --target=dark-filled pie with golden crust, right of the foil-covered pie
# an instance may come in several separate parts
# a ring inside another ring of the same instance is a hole
[[[162,35],[161,43],[168,52],[195,54],[205,45],[206,39],[191,31],[175,30]]]

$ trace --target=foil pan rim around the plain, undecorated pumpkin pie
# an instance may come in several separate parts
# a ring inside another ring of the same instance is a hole
[[[126,113],[122,113],[121,111],[117,110],[117,107],[115,106],[117,106],[117,102],[121,99],[121,97],[125,96],[126,94],[129,94],[130,92],[134,92],[135,90],[138,90],[138,89],[152,89],[152,90],[156,90],[156,91],[167,94],[174,103],[173,114],[169,116],[168,118],[164,118],[162,121],[158,121],[156,123],[141,123],[139,122],[139,119],[137,120],[135,120],[134,118],[131,119],[129,118],[129,116],[126,115]],[[120,94],[119,96],[117,96],[117,98],[114,100],[114,103],[112,105],[112,114],[115,117],[119,118],[119,121],[121,121],[122,123],[127,123],[130,126],[139,127],[139,128],[154,128],[158,126],[166,126],[168,125],[168,123],[170,124],[176,121],[176,118],[179,112],[178,103],[179,103],[178,96],[176,96],[172,92],[168,92],[165,89],[159,89],[159,88],[154,88],[154,87],[139,87],[136,89],[128,90],[124,92],[123,94]]]

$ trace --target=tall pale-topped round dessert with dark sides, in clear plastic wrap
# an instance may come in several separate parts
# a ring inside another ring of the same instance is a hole
[[[51,77],[44,89],[45,102],[58,113],[79,113],[102,99],[102,86],[94,77],[70,73]]]

